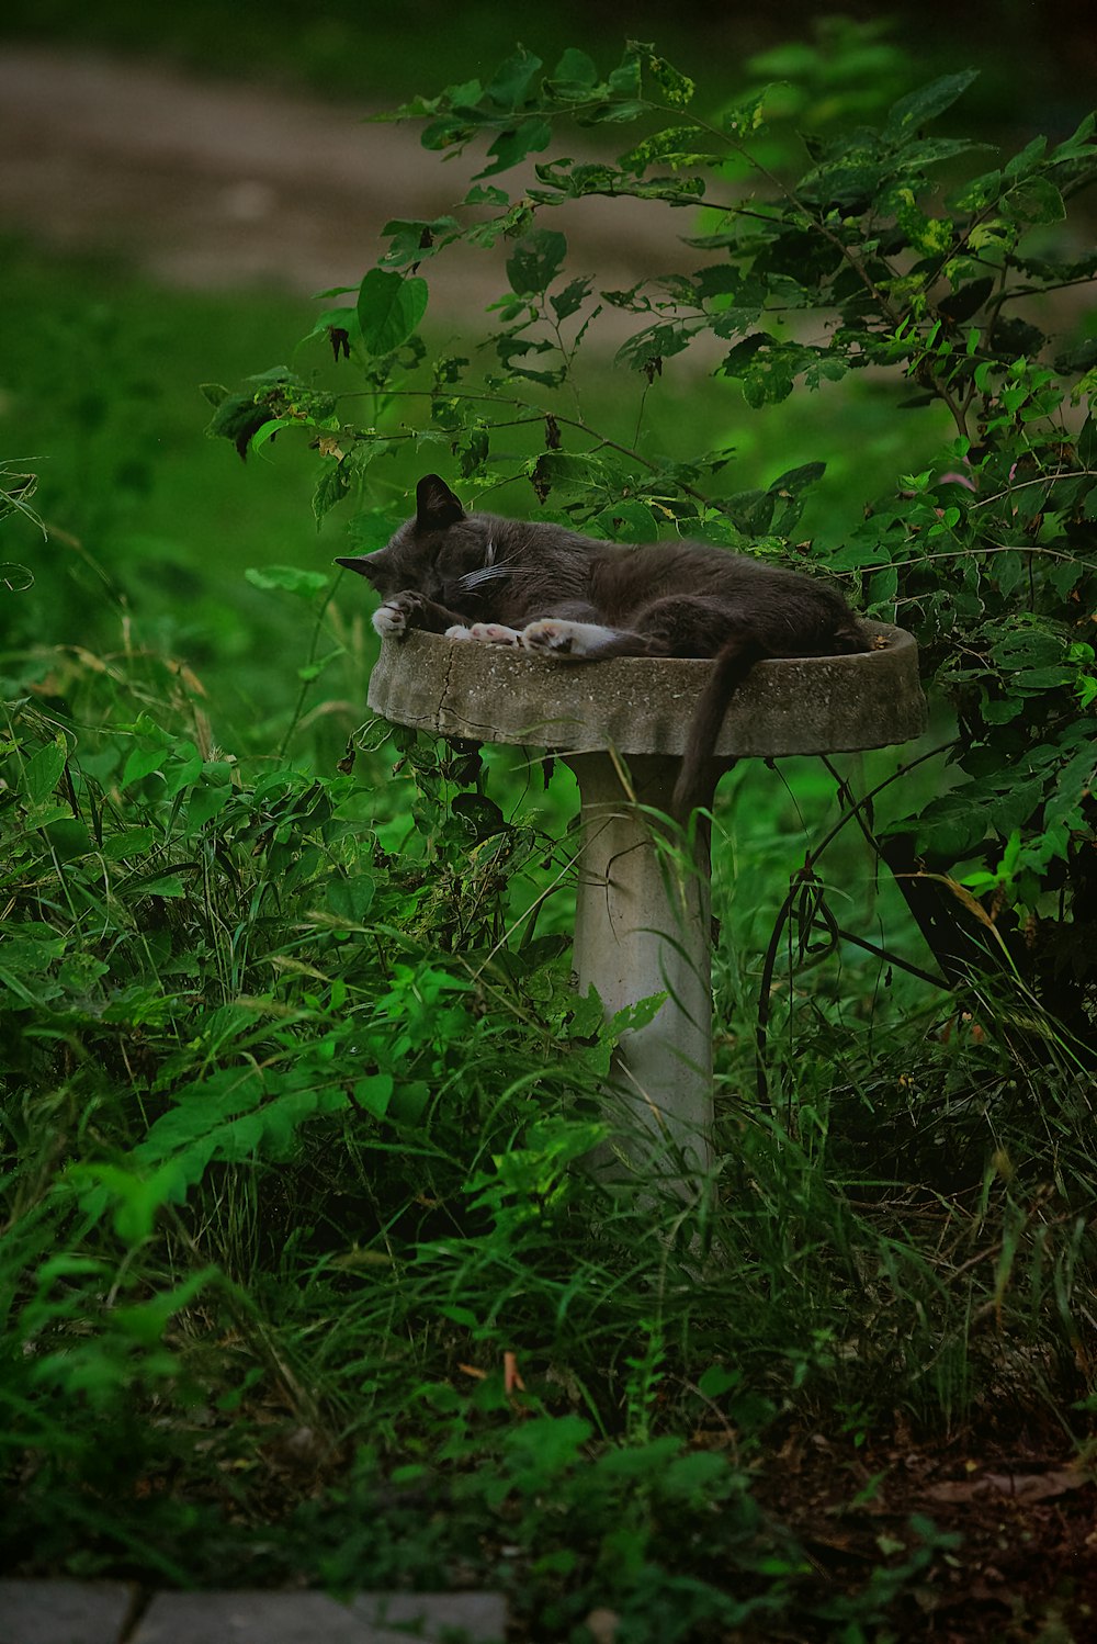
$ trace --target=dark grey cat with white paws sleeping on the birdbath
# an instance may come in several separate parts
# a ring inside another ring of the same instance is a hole
[[[769,656],[870,649],[834,589],[703,543],[627,547],[560,524],[466,513],[445,480],[415,487],[415,515],[386,547],[337,559],[381,595],[373,626],[521,646],[567,661],[713,658],[672,809],[703,802],[706,763],[737,686]]]

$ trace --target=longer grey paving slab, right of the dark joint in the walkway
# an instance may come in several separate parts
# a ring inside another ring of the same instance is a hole
[[[494,1593],[361,1593],[350,1605],[325,1593],[158,1593],[131,1644],[503,1644],[504,1632]]]

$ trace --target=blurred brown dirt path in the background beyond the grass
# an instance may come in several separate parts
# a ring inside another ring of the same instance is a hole
[[[189,288],[355,284],[392,217],[434,217],[476,163],[443,164],[415,128],[347,107],[161,64],[8,46],[0,54],[0,229],[57,250],[117,250]],[[506,182],[506,179],[501,179]],[[585,201],[565,227],[576,271],[626,284],[690,256],[678,214]],[[675,248],[678,256],[675,256]],[[481,255],[447,256],[432,306],[504,289]]]

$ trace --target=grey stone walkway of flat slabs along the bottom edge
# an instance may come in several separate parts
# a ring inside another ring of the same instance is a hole
[[[503,1644],[496,1593],[143,1593],[122,1582],[0,1582],[0,1644]]]

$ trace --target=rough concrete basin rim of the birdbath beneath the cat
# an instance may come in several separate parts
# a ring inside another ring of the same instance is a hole
[[[879,649],[759,663],[736,692],[719,758],[842,753],[921,735],[918,646],[867,623]],[[680,755],[709,661],[560,663],[507,646],[411,633],[386,640],[369,707],[397,725],[562,753]]]

